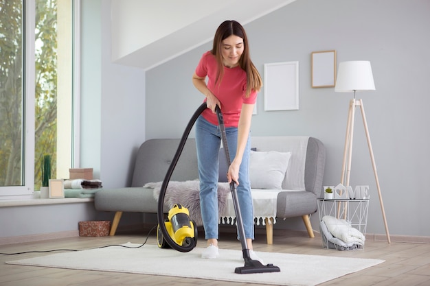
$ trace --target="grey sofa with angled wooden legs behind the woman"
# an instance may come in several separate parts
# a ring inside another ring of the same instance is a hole
[[[94,202],[98,211],[115,212],[110,235],[115,235],[123,212],[157,213],[157,200],[154,198],[153,189],[143,186],[148,182],[160,182],[164,179],[179,141],[180,139],[145,141],[137,153],[131,187],[101,189],[95,193]],[[317,211],[317,198],[321,195],[326,160],[324,144],[313,137],[253,136],[251,147],[258,152],[291,152],[286,176],[282,181],[283,190],[279,191],[275,202],[276,217],[302,217],[308,235],[314,237],[309,215]],[[299,167],[294,167],[296,165]],[[304,189],[292,190],[288,180],[299,177],[304,181]],[[197,178],[199,175],[195,141],[188,139],[170,181]],[[166,212],[166,205],[164,211]],[[273,243],[271,219],[273,218],[267,218],[265,221],[269,244]]]

